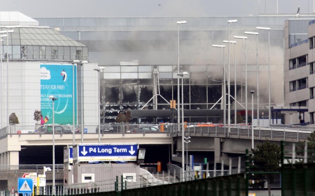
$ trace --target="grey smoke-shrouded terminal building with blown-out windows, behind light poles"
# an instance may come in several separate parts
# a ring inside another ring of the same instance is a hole
[[[221,101],[224,94],[223,67],[226,76],[230,73],[233,119],[235,103],[240,112],[246,107],[246,64],[248,92],[256,90],[256,51],[259,108],[262,111],[259,116],[268,118],[268,31],[257,30],[256,26],[271,28],[271,104],[284,103],[284,21],[290,17],[294,18],[295,15],[36,20],[40,25],[58,28],[60,33],[88,46],[89,61],[105,67],[100,72],[101,123],[114,123],[117,115],[126,111],[131,114],[131,123],[177,122],[177,111],[171,109],[170,103],[171,100],[178,103],[179,87],[182,108],[182,78],[178,84],[177,75],[178,56],[179,73],[188,73],[183,78],[184,121],[221,123],[224,108]],[[303,17],[307,16],[300,16]],[[230,24],[229,39],[237,43],[230,44],[228,55],[228,46],[223,40],[228,39],[227,21],[231,19],[236,19],[237,23]],[[183,20],[187,24],[178,26],[177,21]],[[247,35],[246,43],[245,40],[233,39],[234,36],[245,36],[245,31],[259,33],[257,45],[254,35]],[[225,49],[214,48],[214,44],[225,45]],[[247,96],[250,110],[251,94]],[[256,108],[257,99],[254,98],[253,102]]]

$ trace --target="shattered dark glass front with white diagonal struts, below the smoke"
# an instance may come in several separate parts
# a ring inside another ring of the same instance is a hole
[[[204,73],[211,66],[196,67],[180,66],[180,73],[189,73],[183,78],[184,109],[220,109],[221,82],[214,82]],[[120,111],[171,110],[171,100],[177,100],[177,84],[177,65],[105,66],[105,71],[100,73],[101,123],[115,123]],[[234,93],[234,88],[231,88],[231,93]],[[169,117],[132,118],[130,123],[176,122],[177,111],[172,113]],[[185,121],[219,123],[221,116],[185,116]]]

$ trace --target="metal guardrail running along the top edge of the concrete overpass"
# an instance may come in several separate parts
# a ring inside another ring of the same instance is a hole
[[[96,126],[84,126],[88,131],[84,134],[97,134],[98,127]],[[30,129],[30,126],[8,126],[0,129],[0,138],[6,137],[8,134],[51,134],[36,132]],[[77,127],[80,129],[81,127]],[[89,131],[89,128],[91,131]],[[182,126],[178,124],[105,124],[104,127],[101,126],[101,134],[135,134],[141,133],[145,135],[146,133],[167,133],[170,137],[177,137],[182,135]],[[97,131],[96,131],[97,130]],[[224,124],[212,124],[212,123],[187,123],[185,124],[185,135],[195,135],[201,134],[203,136],[214,136],[214,137],[233,137],[233,138],[252,138],[252,126],[241,125],[241,124],[231,124],[230,132],[228,132],[228,126]],[[254,137],[259,139],[268,139],[275,141],[299,141],[308,140],[310,134],[314,131],[314,127],[298,126],[298,125],[276,125],[273,124],[268,127],[254,126]],[[61,133],[58,133],[61,134]],[[64,134],[72,134],[64,133]],[[75,132],[75,134],[81,134],[80,132]]]

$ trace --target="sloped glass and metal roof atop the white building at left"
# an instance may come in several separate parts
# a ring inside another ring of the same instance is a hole
[[[12,32],[13,30],[13,32]],[[3,58],[10,60],[88,60],[88,47],[19,12],[0,12]],[[7,36],[7,37],[5,37]],[[6,46],[7,45],[7,46]]]

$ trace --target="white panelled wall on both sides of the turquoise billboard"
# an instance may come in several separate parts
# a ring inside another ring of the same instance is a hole
[[[40,110],[40,65],[41,62],[12,62],[8,66],[8,113],[6,78],[3,81],[3,110],[1,126],[7,125],[7,119],[11,113],[15,113],[19,119],[19,126],[32,126],[35,128],[34,111]],[[54,63],[56,64],[56,63]],[[94,125],[98,123],[98,75],[94,71],[98,65],[87,63],[83,68],[83,101],[84,101],[84,123]],[[6,74],[6,73],[4,73]],[[81,73],[78,73],[81,77]],[[81,79],[78,79],[78,88]],[[81,104],[81,93],[78,91],[78,104]],[[1,107],[0,107],[1,108]],[[78,105],[78,124],[81,124],[81,107]],[[8,115],[7,115],[8,114]],[[94,129],[95,130],[95,129]]]

